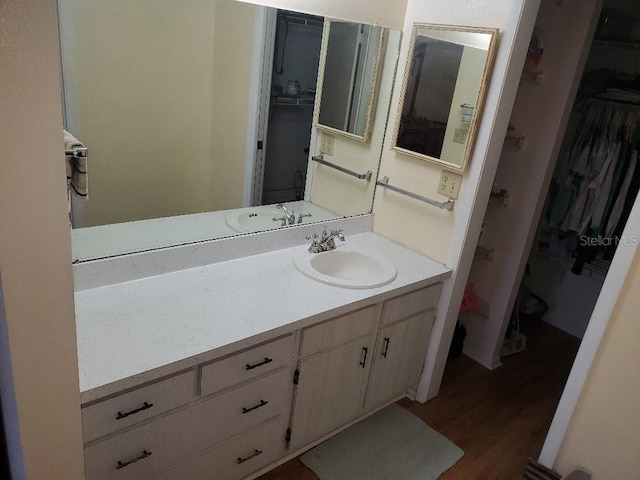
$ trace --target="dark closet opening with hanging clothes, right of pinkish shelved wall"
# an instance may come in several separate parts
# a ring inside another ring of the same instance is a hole
[[[578,338],[616,248],[636,241],[622,232],[640,189],[637,18],[635,2],[600,13],[529,257],[544,320]]]

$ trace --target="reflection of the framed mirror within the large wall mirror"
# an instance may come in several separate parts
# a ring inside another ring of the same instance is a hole
[[[384,60],[385,29],[326,20],[314,125],[366,142]]]

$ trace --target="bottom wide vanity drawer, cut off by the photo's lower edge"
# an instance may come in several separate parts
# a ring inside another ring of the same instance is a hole
[[[278,417],[153,480],[238,480],[275,462],[285,453],[287,418]]]

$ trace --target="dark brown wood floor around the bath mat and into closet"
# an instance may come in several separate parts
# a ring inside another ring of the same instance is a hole
[[[502,367],[489,371],[463,355],[447,364],[436,398],[399,402],[464,450],[441,480],[521,479],[540,453],[580,342],[542,321],[523,330],[527,350]],[[297,457],[260,480],[317,478]]]

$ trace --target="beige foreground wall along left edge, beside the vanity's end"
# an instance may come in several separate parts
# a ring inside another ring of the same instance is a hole
[[[13,476],[80,480],[56,2],[5,0],[0,23],[0,395]]]

